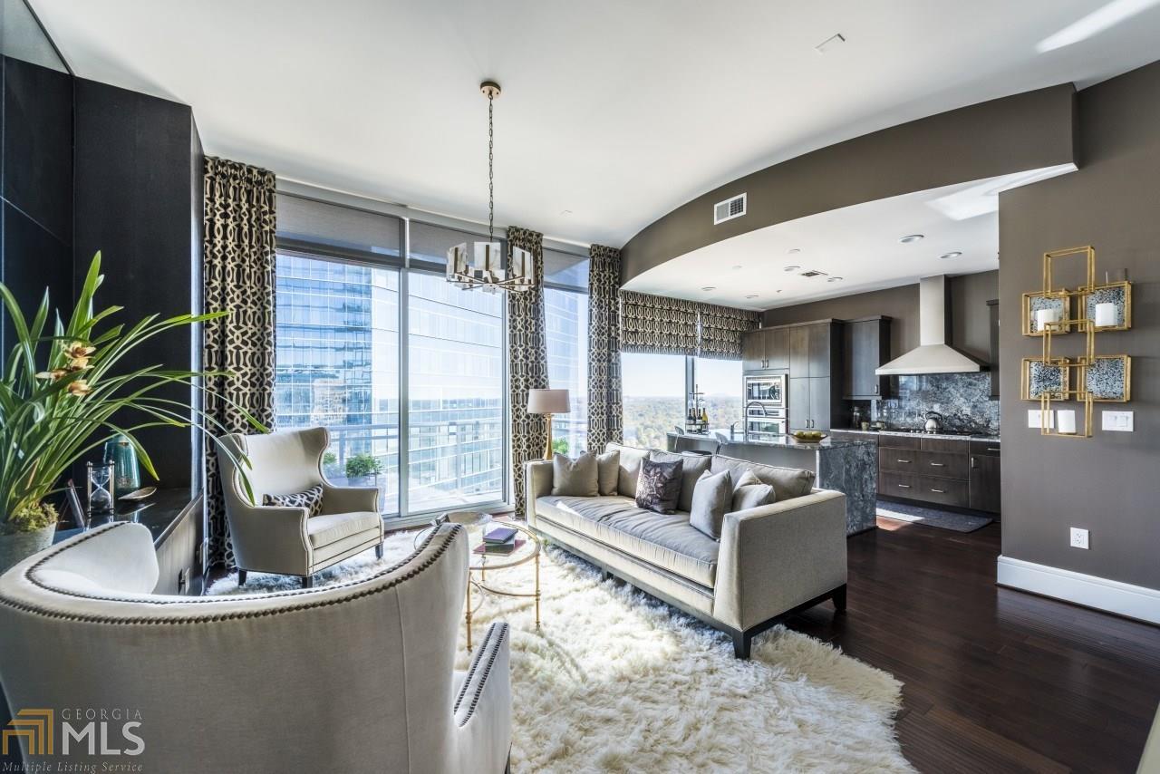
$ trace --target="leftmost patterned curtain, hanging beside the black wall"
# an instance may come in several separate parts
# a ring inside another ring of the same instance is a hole
[[[244,407],[274,426],[274,173],[226,159],[205,159],[203,280],[205,310],[230,310],[203,331],[205,370],[230,371],[206,379],[205,412],[230,433],[252,432]],[[217,432],[223,429],[219,427]],[[205,441],[205,511],[209,564],[233,567],[217,448]]]

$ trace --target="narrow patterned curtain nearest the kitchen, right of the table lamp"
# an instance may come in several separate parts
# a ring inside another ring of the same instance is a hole
[[[621,403],[621,251],[588,248],[588,450],[624,441]]]

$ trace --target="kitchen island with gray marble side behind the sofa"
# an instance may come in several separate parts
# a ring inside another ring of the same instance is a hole
[[[875,528],[878,449],[872,441],[827,437],[805,442],[783,435],[773,441],[722,443],[718,454],[763,465],[812,470],[817,475],[814,486],[846,494],[847,535]]]

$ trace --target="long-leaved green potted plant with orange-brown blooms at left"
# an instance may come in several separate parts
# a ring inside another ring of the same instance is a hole
[[[102,281],[97,253],[68,321],[61,321],[57,312],[51,333],[45,332],[51,309],[48,290],[29,319],[0,283],[0,301],[12,321],[14,342],[0,374],[0,572],[52,543],[57,513],[48,498],[59,491],[61,478],[75,462],[109,439],[124,436],[142,466],[157,478],[148,453],[135,436],[137,431],[196,425],[212,436],[215,431],[226,429],[188,403],[154,393],[173,383],[209,392],[198,383],[201,377],[229,374],[161,366],[122,371],[118,364],[128,352],[158,334],[229,312],[168,319],[151,314],[128,327],[110,325],[122,308],[93,311],[93,297]],[[235,407],[255,429],[266,432],[256,419]],[[235,462],[244,469],[249,461],[238,457]],[[245,475],[242,479],[248,491],[249,482]]]

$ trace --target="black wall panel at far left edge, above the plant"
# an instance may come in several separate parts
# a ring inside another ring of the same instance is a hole
[[[72,75],[2,58],[0,89],[0,281],[31,317],[45,288],[53,306],[72,304]],[[0,312],[0,363],[12,324]]]

